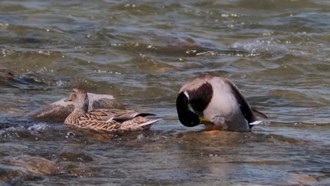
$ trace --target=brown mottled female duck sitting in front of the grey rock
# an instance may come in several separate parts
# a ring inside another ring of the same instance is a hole
[[[153,116],[152,113],[139,113],[137,111],[121,109],[95,109],[88,110],[87,92],[74,88],[66,101],[73,101],[75,109],[66,118],[64,123],[75,125],[79,128],[104,130],[109,132],[123,130],[142,130],[149,128],[159,119],[149,119],[145,116]]]

